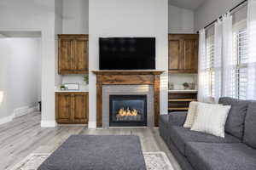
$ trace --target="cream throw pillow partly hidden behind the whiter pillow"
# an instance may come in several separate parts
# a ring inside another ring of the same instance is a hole
[[[192,101],[189,104],[189,111],[186,118],[186,122],[183,124],[183,127],[191,128],[195,122],[195,117],[197,116],[197,105],[199,102]]]

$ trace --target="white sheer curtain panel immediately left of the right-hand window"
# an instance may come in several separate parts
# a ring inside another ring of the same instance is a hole
[[[234,82],[234,67],[233,59],[233,27],[232,16],[224,14],[223,16],[223,85],[222,94],[225,97],[233,97],[234,89],[232,83]]]

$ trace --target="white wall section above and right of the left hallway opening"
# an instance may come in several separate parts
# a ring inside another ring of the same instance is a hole
[[[42,32],[42,123],[55,126],[55,1],[1,0],[0,31]]]

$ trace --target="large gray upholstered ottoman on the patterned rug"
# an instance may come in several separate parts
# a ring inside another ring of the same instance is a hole
[[[38,170],[146,170],[137,136],[73,135]]]

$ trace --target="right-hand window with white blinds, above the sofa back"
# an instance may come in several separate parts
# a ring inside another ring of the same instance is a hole
[[[247,28],[246,24],[239,23],[234,28],[234,97],[247,98]]]

